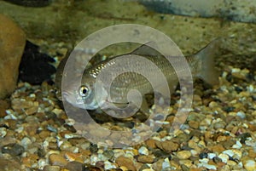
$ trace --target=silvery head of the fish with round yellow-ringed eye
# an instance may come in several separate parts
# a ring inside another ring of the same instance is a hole
[[[96,88],[94,77],[83,77],[81,83],[73,83],[62,89],[62,97],[75,107],[86,110],[96,110],[107,101],[107,91],[101,83]],[[96,97],[97,95],[97,97]]]

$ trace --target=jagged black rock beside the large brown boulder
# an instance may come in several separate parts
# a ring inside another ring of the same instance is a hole
[[[19,67],[20,80],[31,84],[41,84],[44,81],[51,83],[50,76],[56,70],[49,62],[55,62],[55,60],[47,54],[41,54],[37,45],[26,41]]]

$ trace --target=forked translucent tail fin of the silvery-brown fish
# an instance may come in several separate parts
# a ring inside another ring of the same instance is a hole
[[[217,38],[195,54],[196,60],[201,61],[201,70],[198,72],[197,77],[211,85],[218,84],[219,74],[215,69],[214,58],[219,54],[219,43],[220,38]]]

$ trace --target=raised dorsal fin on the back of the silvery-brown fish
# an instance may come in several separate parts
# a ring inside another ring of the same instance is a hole
[[[157,48],[156,43],[154,42],[149,42],[145,43],[139,48],[136,48],[134,51],[131,52],[131,54],[137,54],[137,55],[147,55],[147,56],[157,56],[160,55],[160,53],[155,50],[154,48]]]

